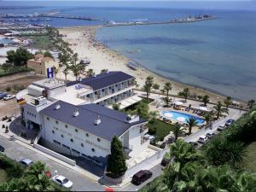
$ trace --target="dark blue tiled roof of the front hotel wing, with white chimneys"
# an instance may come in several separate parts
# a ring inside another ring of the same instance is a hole
[[[126,121],[127,115],[125,113],[96,104],[75,106],[62,101],[58,101],[58,103],[61,108],[55,109],[55,104],[52,104],[44,108],[40,113],[60,120],[68,125],[73,125],[74,127],[94,134],[97,137],[107,139],[108,141],[112,141],[113,136],[121,136],[132,125],[146,122],[145,119],[140,118],[137,122],[129,123]],[[75,109],[79,110],[79,115],[73,117],[73,111]],[[97,116],[100,116],[101,119],[99,125],[95,125]]]

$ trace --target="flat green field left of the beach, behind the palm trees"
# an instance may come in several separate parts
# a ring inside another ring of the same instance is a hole
[[[47,35],[29,36],[33,40],[32,47],[37,49],[52,49],[54,45]]]

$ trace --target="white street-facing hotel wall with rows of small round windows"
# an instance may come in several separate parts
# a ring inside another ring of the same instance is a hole
[[[88,132],[89,137],[86,136],[86,131],[81,129],[77,129],[78,132],[75,131],[75,127],[72,125],[66,124],[58,121],[58,124],[55,123],[56,119],[49,118],[44,115],[44,127],[42,137],[48,140],[49,142],[53,142],[53,140],[60,142],[61,144],[65,144],[70,148],[73,148],[80,153],[97,156],[97,157],[106,157],[110,154],[111,142],[103,139],[101,137],[96,137],[95,135]],[[52,133],[55,131],[55,133]],[[61,134],[63,137],[61,137]],[[73,138],[73,143],[70,139]],[[97,138],[100,138],[100,142],[97,141]],[[84,147],[81,146],[81,143],[84,144]],[[91,148],[95,149],[95,152],[91,150]]]

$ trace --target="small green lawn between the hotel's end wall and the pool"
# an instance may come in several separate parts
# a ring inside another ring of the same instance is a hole
[[[155,136],[156,136],[156,141],[160,141],[166,137],[170,131],[172,130],[172,126],[170,124],[166,124],[163,121],[156,120],[155,123],[150,124],[148,123],[148,129],[149,130],[156,130]]]

